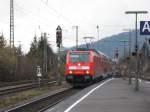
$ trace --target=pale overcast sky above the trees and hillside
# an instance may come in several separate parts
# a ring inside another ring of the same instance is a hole
[[[9,40],[9,1],[0,0],[0,32]],[[79,43],[83,37],[97,38],[96,26],[100,27],[100,39],[123,29],[134,28],[135,16],[125,15],[127,10],[150,12],[150,0],[14,0],[15,45],[21,41],[27,52],[34,35],[49,33],[49,43],[56,49],[55,30],[63,31],[63,46],[75,45],[75,29],[79,26]],[[138,21],[150,20],[150,14],[139,15]],[[139,27],[139,25],[138,25]]]

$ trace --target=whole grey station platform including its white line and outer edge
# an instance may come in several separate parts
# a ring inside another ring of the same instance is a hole
[[[150,82],[139,82],[136,92],[135,80],[109,79],[47,112],[150,112]]]

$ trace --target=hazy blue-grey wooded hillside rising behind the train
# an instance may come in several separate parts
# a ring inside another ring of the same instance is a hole
[[[139,47],[143,45],[143,42],[145,41],[145,38],[147,36],[140,36],[138,31],[138,44]],[[101,39],[99,41],[93,42],[92,44],[88,44],[89,48],[94,48],[96,50],[99,50],[109,57],[114,57],[115,49],[119,49],[119,56],[122,57],[124,55],[124,43],[120,41],[129,41],[129,32],[123,32],[116,35],[112,35],[109,37],[106,37],[104,39]],[[134,51],[135,46],[135,31],[131,32],[131,50]],[[80,45],[79,47],[84,48],[87,47],[85,44]],[[74,47],[73,47],[74,48]],[[126,55],[128,55],[129,52],[129,43],[126,42]]]

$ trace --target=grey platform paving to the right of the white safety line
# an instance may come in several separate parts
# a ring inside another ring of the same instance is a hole
[[[150,84],[140,81],[134,91],[123,79],[114,79],[77,104],[70,112],[150,112]]]

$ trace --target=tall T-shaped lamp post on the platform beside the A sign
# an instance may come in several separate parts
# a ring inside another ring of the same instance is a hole
[[[137,63],[137,73],[136,73],[136,84],[135,91],[139,91],[139,72],[138,72],[138,41],[137,41],[137,15],[138,14],[147,14],[147,11],[126,11],[125,14],[135,14],[135,54],[136,54],[136,63]]]

